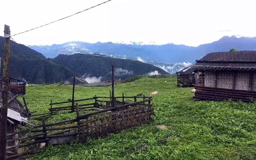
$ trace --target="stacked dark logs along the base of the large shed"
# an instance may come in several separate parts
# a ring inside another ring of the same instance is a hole
[[[234,90],[216,87],[195,86],[196,92],[193,98],[199,100],[233,100],[252,102],[256,100],[256,91]]]

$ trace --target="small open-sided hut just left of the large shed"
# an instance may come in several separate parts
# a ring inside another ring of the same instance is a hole
[[[178,87],[192,87],[194,84],[196,84],[195,72],[194,69],[191,69],[191,67],[186,67],[179,72],[176,72],[176,74]]]

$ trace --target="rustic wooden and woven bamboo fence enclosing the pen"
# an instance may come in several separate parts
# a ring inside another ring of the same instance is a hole
[[[97,100],[98,98],[102,97],[93,97],[90,100]],[[33,129],[8,134],[10,137],[13,137],[11,135],[18,135],[15,136],[16,138],[9,139],[8,141],[21,140],[21,143],[6,147],[7,153],[9,152],[6,159],[14,159],[34,153],[38,149],[47,147],[49,143],[69,143],[71,140],[76,139],[80,142],[85,142],[87,137],[98,138],[106,136],[109,133],[120,132],[126,128],[150,123],[151,116],[154,114],[154,109],[151,105],[152,98],[145,96],[135,96],[133,98],[134,102],[126,103],[124,96],[122,96],[122,105],[106,109],[97,108],[97,111],[83,115],[79,115],[81,105],[76,103],[76,118],[74,119],[50,124],[45,124],[43,120],[41,125],[34,126]],[[137,102],[137,98],[143,98],[144,100]],[[76,100],[76,102],[83,100]],[[62,103],[67,102],[58,102],[58,104]],[[54,105],[57,103],[51,104]],[[95,106],[95,104],[98,104],[98,102],[94,101],[93,105]],[[70,108],[68,109],[71,110]],[[23,142],[23,140],[25,141]],[[20,153],[18,150],[26,151]]]

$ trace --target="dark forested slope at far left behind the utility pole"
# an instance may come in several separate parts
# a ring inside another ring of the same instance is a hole
[[[4,37],[0,36],[0,57],[4,57]],[[1,61],[1,75],[3,60]],[[10,74],[24,77],[29,83],[47,84],[65,81],[74,73],[44,57],[43,54],[11,41]]]

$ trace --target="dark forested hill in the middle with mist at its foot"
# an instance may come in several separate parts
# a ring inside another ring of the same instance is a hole
[[[163,69],[156,66],[142,63],[140,61],[114,59],[85,54],[63,55],[60,54],[52,59],[56,64],[65,66],[80,76],[105,76],[115,65],[115,78],[125,79],[136,75],[146,74],[168,74]],[[153,73],[154,72],[154,73]],[[107,78],[109,79],[111,75]]]

